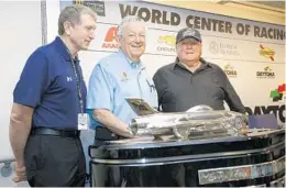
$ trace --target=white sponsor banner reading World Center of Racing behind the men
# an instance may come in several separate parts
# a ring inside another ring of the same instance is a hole
[[[142,60],[151,75],[160,67],[174,62],[177,31],[193,26],[202,35],[202,57],[223,68],[248,112],[275,113],[279,121],[285,122],[284,25],[150,2],[81,0],[75,2],[89,5],[99,15],[96,40],[90,45],[89,52],[80,53],[86,80],[101,57],[118,51],[116,32],[123,16],[139,15],[147,23],[147,45]],[[62,1],[59,9],[72,3]],[[47,12],[55,11],[47,10]],[[57,31],[56,23],[57,20],[50,20],[48,25],[54,26],[48,27],[48,36]],[[55,35],[56,33],[48,41],[54,40]]]

